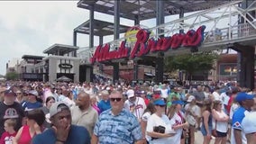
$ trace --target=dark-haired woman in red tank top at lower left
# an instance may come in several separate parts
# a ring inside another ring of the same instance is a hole
[[[26,112],[27,124],[18,130],[17,135],[13,140],[13,144],[29,144],[32,138],[40,134],[42,124],[45,120],[44,113],[41,109],[34,109]]]

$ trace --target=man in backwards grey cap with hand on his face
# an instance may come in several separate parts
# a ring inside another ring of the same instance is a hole
[[[71,124],[69,106],[63,102],[50,107],[52,127],[34,136],[32,144],[89,144],[90,136],[86,128]]]

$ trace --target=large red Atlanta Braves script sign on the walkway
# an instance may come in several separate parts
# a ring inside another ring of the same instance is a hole
[[[91,63],[102,62],[105,60],[118,58],[136,58],[147,55],[149,52],[167,51],[169,49],[178,49],[180,47],[199,47],[204,40],[204,31],[206,26],[200,26],[197,31],[190,30],[187,33],[176,33],[169,37],[162,37],[158,40],[149,39],[151,32],[142,29],[136,34],[136,42],[133,49],[125,46],[126,40],[123,40],[120,47],[110,51],[110,44],[99,45],[96,48],[94,56],[90,59]]]

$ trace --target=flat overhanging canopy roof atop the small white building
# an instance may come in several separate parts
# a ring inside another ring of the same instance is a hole
[[[63,56],[64,54],[67,54],[72,51],[76,51],[77,49],[78,47],[75,47],[75,46],[64,45],[64,44],[54,44],[50,46],[50,48],[43,50],[43,53]]]

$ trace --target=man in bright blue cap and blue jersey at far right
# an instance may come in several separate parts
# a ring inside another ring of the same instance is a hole
[[[242,119],[251,111],[253,105],[253,95],[246,93],[238,93],[235,101],[240,104],[240,107],[233,112],[231,143],[232,144],[246,144],[244,130],[242,129]]]

